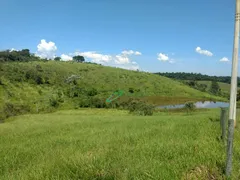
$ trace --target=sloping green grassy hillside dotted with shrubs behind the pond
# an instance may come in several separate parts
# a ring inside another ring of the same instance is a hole
[[[121,99],[142,97],[159,105],[221,99],[144,72],[73,62],[0,63],[0,109],[6,103],[18,104],[15,111],[71,109],[89,96],[105,100],[118,89],[124,91]]]

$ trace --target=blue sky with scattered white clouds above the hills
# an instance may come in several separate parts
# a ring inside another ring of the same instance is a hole
[[[0,0],[0,50],[231,75],[235,0]]]

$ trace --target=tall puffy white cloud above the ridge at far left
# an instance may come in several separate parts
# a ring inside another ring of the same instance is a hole
[[[37,49],[37,56],[41,58],[53,59],[57,51],[57,46],[52,41],[46,42],[45,39],[42,39],[41,43],[38,44]]]

